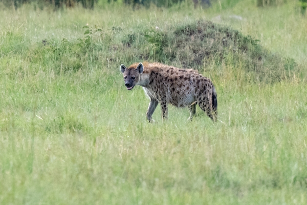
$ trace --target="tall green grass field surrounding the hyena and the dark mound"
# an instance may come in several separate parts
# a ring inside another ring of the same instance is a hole
[[[307,18],[296,2],[101,7],[0,12],[0,204],[307,203]],[[233,58],[211,61],[202,74],[220,121],[197,108],[187,122],[187,108],[170,106],[166,122],[157,108],[148,124],[149,99],[126,90],[119,66],[160,59],[139,34],[199,19],[259,39],[297,69],[265,83]]]

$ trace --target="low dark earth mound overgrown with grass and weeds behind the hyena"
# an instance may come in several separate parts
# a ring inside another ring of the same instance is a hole
[[[252,81],[265,83],[287,78],[296,68],[293,59],[283,58],[262,48],[259,40],[205,20],[173,26],[165,31],[149,29],[141,35],[145,40],[139,42],[138,47],[152,46],[147,52],[142,50],[139,55],[142,60],[181,64],[184,68],[194,68],[200,72],[224,65],[243,70]],[[123,43],[130,47],[133,40],[127,39]]]

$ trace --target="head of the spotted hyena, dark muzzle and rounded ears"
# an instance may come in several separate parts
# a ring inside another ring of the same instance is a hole
[[[122,72],[125,80],[125,86],[127,90],[133,89],[140,81],[140,74],[143,73],[143,64],[139,64],[137,68],[126,68],[123,64],[120,65],[120,71]]]

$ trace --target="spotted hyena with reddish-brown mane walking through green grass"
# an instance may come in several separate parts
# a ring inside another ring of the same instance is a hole
[[[162,118],[167,118],[167,105],[189,107],[190,117],[195,114],[196,104],[216,121],[217,99],[211,80],[195,70],[184,70],[160,63],[136,63],[128,68],[120,66],[127,90],[142,86],[150,98],[147,119],[161,105]]]

